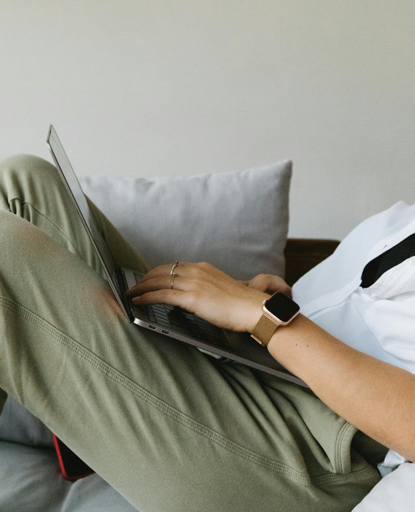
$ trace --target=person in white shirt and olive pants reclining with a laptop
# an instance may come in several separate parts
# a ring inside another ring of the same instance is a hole
[[[148,271],[90,207],[115,264]],[[12,157],[0,165],[3,403],[10,394],[24,404],[142,511],[351,510],[379,482],[376,464],[388,449],[415,459],[411,348],[400,359],[402,343],[393,355],[374,342],[370,354],[376,328],[389,346],[393,329],[400,342],[415,332],[415,277],[407,286],[402,270],[407,262],[414,268],[414,257],[382,274],[377,298],[388,289],[392,315],[381,309],[370,327],[357,306],[374,314],[359,284],[362,261],[411,230],[415,208],[399,204],[363,223],[294,287],[302,313],[267,347],[307,389],[137,329],[121,314],[56,169]],[[241,283],[188,262],[179,262],[171,287],[170,270],[148,271],[131,300],[178,305],[252,332],[264,298],[291,293],[276,276]]]

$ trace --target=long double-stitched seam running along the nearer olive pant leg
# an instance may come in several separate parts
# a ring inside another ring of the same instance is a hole
[[[156,396],[152,395],[149,391],[141,388],[137,383],[133,382],[131,379],[122,375],[122,373],[120,373],[115,368],[111,367],[107,362],[100,359],[90,350],[80,345],[70,336],[59,331],[54,326],[49,324],[49,322],[47,322],[45,319],[36,315],[35,313],[28,310],[24,306],[15,303],[8,297],[4,296],[0,296],[0,306],[3,306],[12,313],[15,313],[19,317],[25,319],[27,322],[34,324],[39,329],[54,337],[60,344],[64,345],[68,349],[72,350],[73,352],[81,356],[84,360],[89,362],[91,366],[94,366],[99,371],[107,375],[109,378],[117,382],[119,385],[123,386],[125,389],[141,398],[144,402],[148,403],[150,406],[154,407],[162,414],[177,421],[185,428],[211,440],[218,446],[222,447],[224,450],[227,450],[233,453],[234,455],[247,460],[248,462],[252,462],[253,464],[264,467],[276,473],[282,474],[287,478],[294,480],[302,485],[312,485],[312,479],[310,479],[308,474],[300,473],[294,470],[292,467],[289,467],[281,462],[277,462],[272,459],[268,459],[266,457],[258,455],[255,452],[252,452],[251,450],[248,450],[245,447],[240,446],[234,441],[227,439],[223,435],[218,434],[212,429],[209,429],[205,425],[190,418],[189,416],[186,416],[185,414],[181,413],[174,407],[170,406],[168,403],[163,402]],[[356,479],[360,480],[360,478],[365,478],[365,473],[365,471],[360,471],[352,475],[354,476],[353,478],[356,481]],[[344,480],[344,477],[348,479],[347,477],[349,477],[349,475],[323,475],[321,477],[318,477],[318,481],[321,480],[326,484],[341,483]]]

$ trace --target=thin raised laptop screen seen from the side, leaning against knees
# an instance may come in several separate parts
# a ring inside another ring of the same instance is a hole
[[[49,134],[47,143],[52,154],[52,158],[56,164],[56,168],[59,172],[61,179],[63,180],[70,197],[72,198],[75,208],[79,214],[79,217],[84,224],[84,227],[88,233],[88,236],[95,248],[98,255],[98,259],[102,264],[102,268],[107,276],[107,279],[111,285],[111,288],[117,298],[124,313],[128,316],[122,301],[121,301],[121,290],[118,285],[117,276],[114,268],[114,260],[111,252],[108,248],[106,241],[103,239],[102,234],[98,228],[98,224],[94,218],[94,215],[88,206],[87,199],[84,192],[82,191],[78,179],[73,172],[72,165],[70,164],[68,157],[66,156],[65,150],[60,143],[60,140],[56,134],[56,131],[52,125],[49,128]]]

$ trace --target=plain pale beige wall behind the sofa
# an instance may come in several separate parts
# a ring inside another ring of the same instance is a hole
[[[415,202],[413,0],[0,0],[0,158],[151,176],[294,160],[293,237]]]

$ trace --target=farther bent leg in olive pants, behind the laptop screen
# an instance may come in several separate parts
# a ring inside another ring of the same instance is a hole
[[[143,259],[105,215],[92,201],[88,199],[88,202],[116,266],[148,271]],[[18,155],[0,163],[0,209],[11,211],[34,224],[105,277],[56,168],[46,160]]]

